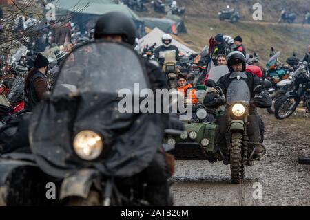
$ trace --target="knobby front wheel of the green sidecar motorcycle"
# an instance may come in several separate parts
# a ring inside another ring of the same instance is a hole
[[[230,170],[231,170],[231,184],[240,184],[241,173],[244,177],[244,168],[242,171],[242,134],[231,134],[231,153],[230,153]]]

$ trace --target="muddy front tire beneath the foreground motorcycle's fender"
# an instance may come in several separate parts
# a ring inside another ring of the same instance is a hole
[[[65,206],[102,206],[99,192],[90,190],[86,199],[82,197],[68,197]]]

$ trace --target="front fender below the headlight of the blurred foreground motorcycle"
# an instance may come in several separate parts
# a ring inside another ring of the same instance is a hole
[[[100,187],[99,171],[94,169],[82,169],[70,174],[63,179],[59,199],[67,197],[82,197],[87,199],[92,184]]]

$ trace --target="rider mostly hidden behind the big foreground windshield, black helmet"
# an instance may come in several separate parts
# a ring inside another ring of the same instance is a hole
[[[132,19],[121,12],[109,12],[103,14],[95,25],[95,39],[105,39],[112,42],[123,42],[134,48],[136,30]],[[121,56],[121,54],[120,54]],[[161,73],[158,63],[143,59],[143,64],[147,70],[147,75],[152,89],[167,88],[164,74]],[[147,199],[155,206],[172,205],[169,198],[169,184],[167,182],[168,173],[166,166],[172,160],[165,160],[163,149],[158,146],[158,153],[154,156],[153,162],[143,171],[148,180]],[[169,172],[172,172],[170,167]]]

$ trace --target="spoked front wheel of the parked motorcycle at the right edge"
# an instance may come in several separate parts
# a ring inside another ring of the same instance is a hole
[[[285,96],[277,100],[275,105],[275,116],[277,119],[282,120],[289,118],[289,116],[295,112],[298,102],[296,102],[293,98],[287,98]]]

